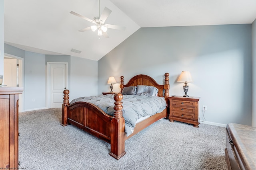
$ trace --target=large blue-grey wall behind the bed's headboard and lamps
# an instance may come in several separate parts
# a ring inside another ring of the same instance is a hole
[[[251,125],[251,24],[140,28],[98,61],[98,94],[114,76],[124,83],[136,74],[163,84],[170,73],[170,95],[183,95],[176,82],[183,70],[192,74],[188,95],[199,96],[208,123]],[[119,84],[114,91],[119,91]]]

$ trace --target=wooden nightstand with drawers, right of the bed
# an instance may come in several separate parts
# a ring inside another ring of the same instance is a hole
[[[168,97],[168,99],[170,122],[181,121],[198,127],[200,97],[174,96]]]

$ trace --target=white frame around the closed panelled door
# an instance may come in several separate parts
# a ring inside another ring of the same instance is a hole
[[[66,64],[66,89],[68,89],[68,63],[67,62],[46,62],[46,108],[50,108],[50,65]]]

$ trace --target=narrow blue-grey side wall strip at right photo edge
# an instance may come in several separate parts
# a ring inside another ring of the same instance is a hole
[[[252,23],[252,84],[256,84],[256,20]],[[252,126],[256,127],[256,88],[252,88]]]

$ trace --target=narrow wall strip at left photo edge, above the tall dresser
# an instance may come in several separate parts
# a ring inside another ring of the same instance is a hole
[[[0,0],[0,75],[4,75],[4,0]]]

